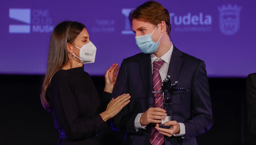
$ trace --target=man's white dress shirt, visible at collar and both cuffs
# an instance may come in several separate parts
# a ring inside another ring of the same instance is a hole
[[[159,60],[163,60],[165,61],[162,65],[162,67],[159,70],[161,79],[163,80],[166,76],[167,76],[167,72],[168,72],[168,68],[169,68],[169,64],[170,64],[170,60],[171,60],[171,55],[172,55],[172,50],[173,50],[173,45],[171,46],[171,48],[160,58],[157,58],[154,54],[151,54],[151,65],[152,65],[152,74],[153,74],[153,62],[154,61],[159,61]],[[136,129],[136,131],[138,131],[139,129],[145,129],[146,126],[141,126],[140,124],[140,117],[143,113],[139,113],[135,120],[134,120],[134,127]],[[180,134],[174,134],[173,136],[183,136],[185,135],[185,125],[182,122],[179,122],[180,125]]]

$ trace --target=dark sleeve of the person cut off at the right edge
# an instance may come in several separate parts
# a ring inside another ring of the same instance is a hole
[[[246,79],[246,101],[248,126],[256,134],[256,74],[249,74]]]

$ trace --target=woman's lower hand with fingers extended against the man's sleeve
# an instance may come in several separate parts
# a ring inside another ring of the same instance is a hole
[[[106,108],[106,111],[100,114],[101,118],[106,121],[114,117],[118,112],[122,110],[124,106],[130,102],[130,98],[131,96],[129,94],[120,95],[116,99],[112,98]]]

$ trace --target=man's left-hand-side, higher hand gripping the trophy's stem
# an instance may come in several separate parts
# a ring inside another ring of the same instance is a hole
[[[167,116],[165,110],[151,107],[141,115],[140,124],[141,126],[146,126],[150,123],[161,123],[161,119],[165,119],[165,116]]]

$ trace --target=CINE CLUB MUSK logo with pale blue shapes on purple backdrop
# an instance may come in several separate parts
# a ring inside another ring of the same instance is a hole
[[[9,9],[9,18],[20,24],[10,24],[9,33],[49,33],[54,29],[49,10]]]

